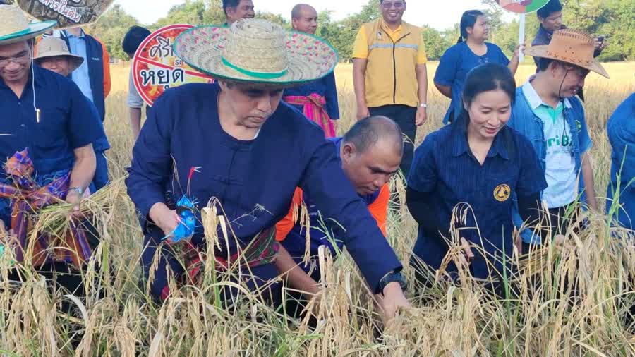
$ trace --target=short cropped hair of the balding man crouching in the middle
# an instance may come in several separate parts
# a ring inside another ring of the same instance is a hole
[[[387,116],[369,116],[355,123],[344,134],[344,143],[353,143],[359,153],[363,153],[380,139],[394,140],[399,152],[404,152],[404,137],[399,125]]]

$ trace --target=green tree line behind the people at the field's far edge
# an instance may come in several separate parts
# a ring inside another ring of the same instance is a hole
[[[416,0],[411,0],[416,1]],[[256,8],[258,8],[258,1]],[[482,0],[483,8],[490,18],[490,42],[498,44],[504,52],[511,54],[518,42],[519,22],[514,18],[504,21],[504,10],[494,0]],[[342,20],[333,20],[331,11],[323,11],[320,16],[320,28],[317,35],[328,40],[339,52],[342,61],[351,58],[353,41],[361,25],[380,17],[379,1],[368,0],[361,11]],[[635,1],[633,0],[563,0],[564,23],[569,28],[586,30],[595,35],[606,36],[609,46],[600,56],[601,61],[635,60]],[[430,11],[434,11],[430,9]],[[258,18],[267,18],[291,28],[286,19],[289,15],[258,12]],[[456,13],[456,24],[447,30],[435,30],[423,25],[423,37],[430,60],[439,59],[443,52],[459,37],[459,20],[461,13]],[[536,14],[526,16],[526,38],[528,42],[538,30]],[[171,8],[166,17],[157,23],[147,26],[156,30],[173,23],[189,23],[191,25],[224,23],[221,0],[187,0],[181,5]],[[128,56],[121,49],[121,39],[138,20],[123,11],[121,6],[113,6],[89,31],[104,41],[112,57],[127,60]],[[413,23],[421,25],[421,23]]]

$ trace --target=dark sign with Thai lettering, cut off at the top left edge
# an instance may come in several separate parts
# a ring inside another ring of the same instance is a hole
[[[55,20],[58,29],[95,23],[114,0],[17,0],[23,11],[37,20]]]

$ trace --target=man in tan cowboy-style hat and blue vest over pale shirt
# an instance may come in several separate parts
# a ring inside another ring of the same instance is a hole
[[[508,125],[533,143],[545,171],[548,188],[542,200],[549,209],[552,234],[564,234],[575,222],[576,202],[598,210],[586,117],[575,97],[593,71],[608,78],[593,59],[594,39],[578,30],[558,30],[547,46],[532,46],[527,53],[540,57],[538,74],[516,91]],[[579,175],[581,173],[581,175]],[[514,220],[521,226],[521,219]],[[545,224],[549,225],[549,224]],[[548,234],[523,231],[524,250],[547,239]]]

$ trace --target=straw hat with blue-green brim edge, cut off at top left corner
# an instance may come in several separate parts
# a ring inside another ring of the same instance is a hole
[[[29,22],[17,4],[0,5],[0,44],[12,44],[42,35],[56,21]]]

